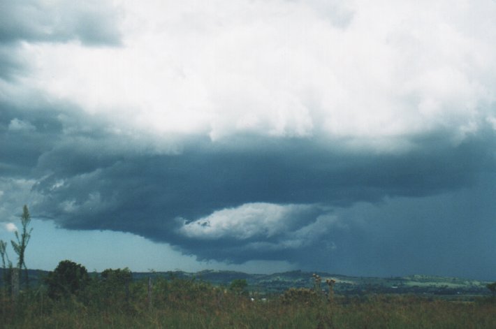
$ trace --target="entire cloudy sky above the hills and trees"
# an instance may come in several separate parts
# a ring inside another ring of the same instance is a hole
[[[28,205],[28,268],[494,280],[494,17],[0,0],[0,239]]]

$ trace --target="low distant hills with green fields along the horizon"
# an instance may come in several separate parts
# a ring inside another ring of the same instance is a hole
[[[0,279],[3,274],[0,269]],[[92,275],[98,273],[92,272]],[[271,275],[253,275],[235,271],[203,270],[200,272],[133,272],[133,279],[163,277],[166,279],[195,279],[210,282],[216,286],[228,286],[235,279],[246,279],[249,290],[263,293],[282,293],[289,288],[312,288],[312,272],[291,271]],[[316,272],[322,278],[322,288],[326,279],[335,279],[334,290],[341,295],[364,295],[367,293],[421,294],[421,295],[488,295],[486,284],[490,282],[461,279],[457,277],[436,277],[411,275],[407,277],[348,277]],[[29,282],[36,286],[43,281],[48,271],[29,270]]]

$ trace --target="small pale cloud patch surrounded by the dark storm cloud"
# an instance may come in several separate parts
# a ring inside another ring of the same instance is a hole
[[[342,224],[333,214],[309,218],[309,210],[312,209],[313,205],[247,203],[191,221],[179,231],[198,240],[238,240],[238,247],[242,246],[246,251],[300,249],[317,242],[325,242],[319,248],[333,251],[336,246],[326,239],[326,235],[329,235],[331,228]],[[271,240],[272,237],[275,239]]]

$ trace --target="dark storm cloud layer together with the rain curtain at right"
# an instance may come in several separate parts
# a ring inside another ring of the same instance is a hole
[[[205,260],[284,259],[357,275],[428,272],[436,262],[473,277],[490,268],[478,270],[467,251],[485,262],[495,247],[490,127],[458,145],[438,131],[411,138],[408,151],[383,154],[319,136],[196,136],[176,139],[173,152],[154,152],[102,118],[34,100],[34,108],[1,103],[2,214],[22,198],[36,217],[62,227],[136,233]],[[184,234],[184,225],[226,209],[242,216],[252,203],[284,211],[256,219],[264,227],[245,235],[254,214],[214,239]],[[457,268],[457,257],[472,270]]]

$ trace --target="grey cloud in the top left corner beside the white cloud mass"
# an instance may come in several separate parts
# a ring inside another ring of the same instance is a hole
[[[1,1],[0,43],[15,41],[119,45],[117,13],[108,1]]]

